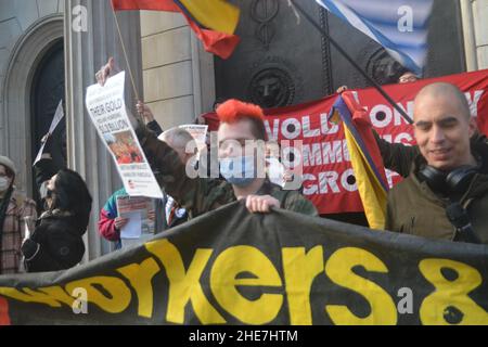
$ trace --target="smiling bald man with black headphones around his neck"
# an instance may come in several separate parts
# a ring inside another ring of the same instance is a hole
[[[476,121],[464,94],[444,82],[424,87],[413,120],[420,154],[388,194],[385,229],[488,244],[488,145],[470,141]]]

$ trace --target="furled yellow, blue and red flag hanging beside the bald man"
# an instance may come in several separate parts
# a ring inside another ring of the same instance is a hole
[[[347,147],[370,228],[382,230],[385,227],[388,184],[371,124],[352,92],[342,93],[332,110],[331,116],[339,117],[344,124]]]

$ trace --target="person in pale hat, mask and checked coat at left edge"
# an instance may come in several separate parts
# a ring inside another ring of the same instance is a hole
[[[18,273],[25,220],[37,219],[36,203],[15,190],[15,165],[0,156],[0,274]]]

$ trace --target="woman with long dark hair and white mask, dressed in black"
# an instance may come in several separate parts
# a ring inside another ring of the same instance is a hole
[[[49,167],[43,158],[36,166]],[[75,171],[61,169],[43,184],[47,189],[46,211],[34,233],[24,241],[22,253],[27,272],[69,269],[85,254],[82,235],[87,231],[92,198],[84,179]]]

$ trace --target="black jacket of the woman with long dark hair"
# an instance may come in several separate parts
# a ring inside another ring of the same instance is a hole
[[[54,210],[43,214],[36,230],[22,246],[27,272],[73,268],[85,254],[82,235],[87,221]]]

